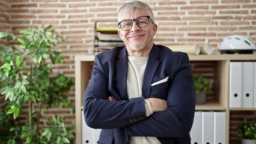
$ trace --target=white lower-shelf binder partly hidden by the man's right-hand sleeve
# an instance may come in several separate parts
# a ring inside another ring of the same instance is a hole
[[[191,144],[201,144],[202,135],[202,112],[196,111],[194,122],[190,130]]]

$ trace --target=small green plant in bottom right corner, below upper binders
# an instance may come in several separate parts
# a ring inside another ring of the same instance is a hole
[[[256,144],[256,123],[242,122],[237,125],[237,136],[242,139],[242,144]]]

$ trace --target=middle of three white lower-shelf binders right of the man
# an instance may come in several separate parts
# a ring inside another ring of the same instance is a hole
[[[213,112],[202,112],[202,143],[213,144]]]

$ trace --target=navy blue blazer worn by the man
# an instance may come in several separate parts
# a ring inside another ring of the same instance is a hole
[[[84,116],[89,127],[103,129],[99,143],[130,143],[130,136],[153,136],[166,144],[190,143],[195,100],[187,54],[154,44],[145,68],[142,97],[129,100],[126,79],[126,47],[95,56],[84,94]],[[117,101],[109,101],[110,95]],[[162,98],[168,109],[147,117],[144,98]]]

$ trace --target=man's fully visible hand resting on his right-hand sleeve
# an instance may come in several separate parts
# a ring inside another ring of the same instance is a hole
[[[167,109],[167,101],[160,98],[147,98],[150,101],[153,112],[159,112]]]

